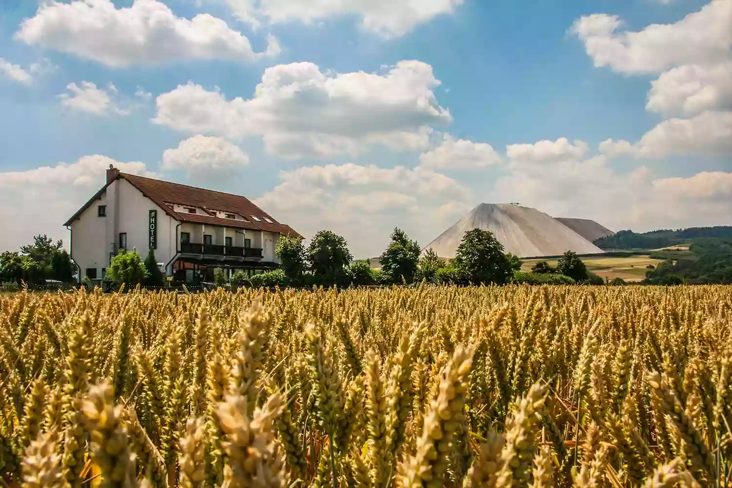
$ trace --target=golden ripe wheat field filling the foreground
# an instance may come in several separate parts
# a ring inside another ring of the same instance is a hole
[[[727,487],[732,287],[0,296],[3,487]]]

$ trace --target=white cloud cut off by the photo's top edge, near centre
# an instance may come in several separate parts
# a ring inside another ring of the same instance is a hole
[[[384,37],[398,37],[438,15],[451,14],[464,0],[225,0],[231,10],[253,26],[262,23],[354,16],[361,27]]]

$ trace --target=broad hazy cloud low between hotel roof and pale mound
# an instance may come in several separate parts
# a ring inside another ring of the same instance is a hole
[[[378,255],[384,229],[403,228],[422,244],[451,225],[471,199],[455,179],[417,167],[322,165],[280,172],[280,184],[255,200],[306,237],[333,230],[359,258]]]

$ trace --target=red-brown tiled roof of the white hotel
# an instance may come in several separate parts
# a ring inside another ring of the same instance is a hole
[[[285,236],[301,237],[299,233],[293,230],[289,225],[277,222],[274,217],[260,209],[248,198],[231,193],[217,192],[212,189],[203,189],[197,187],[189,187],[185,184],[171,183],[170,181],[160,181],[143,176],[130,175],[127,173],[119,173],[116,179],[126,179],[133,187],[147,198],[152,200],[166,214],[173,217],[179,222],[195,222],[204,225],[220,225],[223,227],[241,228],[250,230],[264,230],[266,232],[277,232]],[[79,209],[64,225],[71,225],[75,219],[86,210],[91,203],[100,197],[102,192],[109,186],[109,183],[102,187],[94,197],[91,198],[81,209]],[[168,203],[177,203],[183,206],[192,206],[204,209],[205,211],[225,211],[227,213],[241,214],[249,222],[244,220],[223,219],[214,217],[213,215],[187,214],[176,212],[168,206]],[[259,217],[262,221],[255,222],[252,216]],[[272,223],[264,222],[264,219],[272,220]]]

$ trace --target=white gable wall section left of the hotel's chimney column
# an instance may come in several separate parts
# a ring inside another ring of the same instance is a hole
[[[71,223],[71,258],[79,266],[81,277],[86,276],[87,268],[97,269],[97,277],[102,277],[102,268],[109,264],[111,247],[107,242],[106,226],[110,222],[109,206],[107,217],[99,217],[97,208],[107,205],[107,195],[102,193],[99,200],[91,203],[77,220]]]

